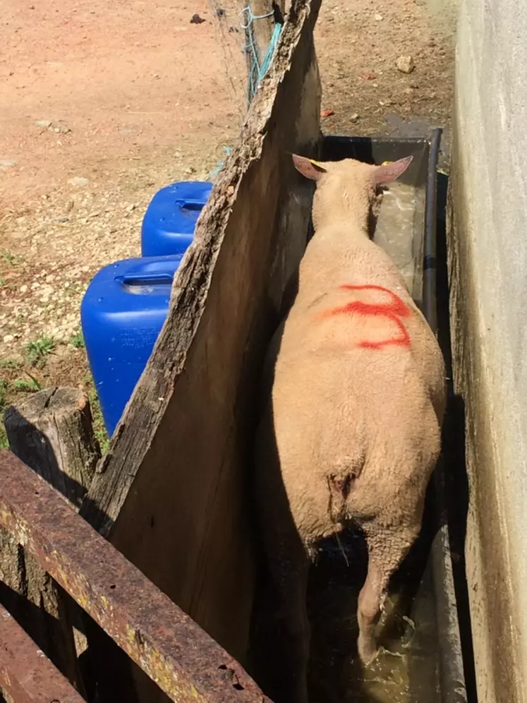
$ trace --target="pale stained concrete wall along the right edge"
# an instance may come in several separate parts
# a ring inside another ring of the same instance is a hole
[[[480,703],[527,701],[527,2],[463,0],[449,198]]]

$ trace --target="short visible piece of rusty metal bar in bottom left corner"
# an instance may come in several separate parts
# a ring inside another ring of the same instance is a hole
[[[83,697],[2,606],[0,688],[16,703],[84,703]]]

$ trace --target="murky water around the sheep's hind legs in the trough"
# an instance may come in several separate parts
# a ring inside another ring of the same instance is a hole
[[[378,625],[380,654],[363,668],[356,651],[358,593],[367,558],[363,539],[323,550],[310,574],[312,703],[439,703],[437,630],[428,548],[404,564]],[[424,556],[423,556],[424,555]]]

